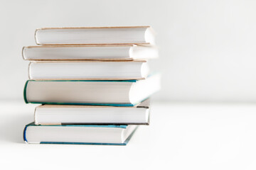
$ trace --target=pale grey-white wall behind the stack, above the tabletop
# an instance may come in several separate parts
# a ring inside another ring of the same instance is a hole
[[[21,99],[36,28],[145,26],[158,33],[163,72],[155,96],[171,101],[256,101],[256,1],[1,1],[0,98]]]

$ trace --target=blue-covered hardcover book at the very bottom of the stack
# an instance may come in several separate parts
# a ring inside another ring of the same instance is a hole
[[[28,144],[127,145],[137,125],[26,125]]]

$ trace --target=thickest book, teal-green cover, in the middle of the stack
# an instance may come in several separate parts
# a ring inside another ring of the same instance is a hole
[[[135,106],[160,89],[160,74],[143,80],[28,80],[26,103]]]

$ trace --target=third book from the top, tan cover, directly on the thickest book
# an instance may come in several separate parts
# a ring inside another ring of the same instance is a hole
[[[145,79],[149,74],[146,61],[73,61],[31,62],[29,79]]]

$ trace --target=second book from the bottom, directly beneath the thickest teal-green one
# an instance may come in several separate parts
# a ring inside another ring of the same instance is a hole
[[[149,99],[134,107],[41,105],[36,125],[149,125]]]

